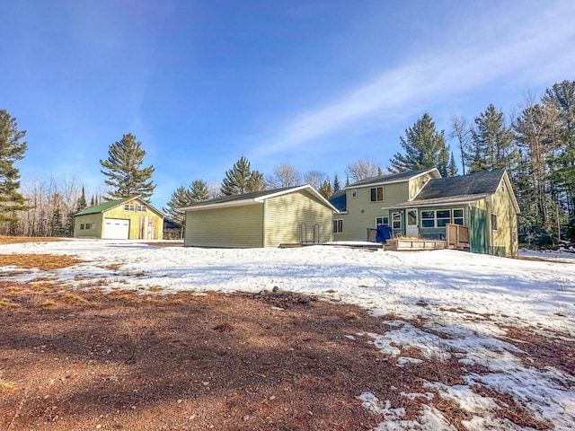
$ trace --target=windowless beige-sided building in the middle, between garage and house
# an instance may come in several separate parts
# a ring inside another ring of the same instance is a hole
[[[238,248],[330,242],[337,212],[310,185],[215,198],[181,211],[184,246]]]

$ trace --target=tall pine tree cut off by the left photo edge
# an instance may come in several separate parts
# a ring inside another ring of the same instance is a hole
[[[20,171],[13,165],[24,158],[28,148],[26,142],[21,142],[24,136],[26,131],[18,130],[16,119],[6,110],[0,110],[0,222],[16,222],[15,212],[30,208],[18,192]]]

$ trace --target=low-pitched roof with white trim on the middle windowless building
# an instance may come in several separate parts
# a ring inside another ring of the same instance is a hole
[[[198,211],[200,209],[211,207],[236,207],[241,205],[257,204],[269,198],[275,198],[276,196],[281,196],[304,189],[311,192],[316,198],[322,200],[326,207],[331,207],[334,211],[337,211],[337,209],[333,207],[326,198],[323,198],[323,196],[309,184],[297,187],[286,187],[283,189],[252,191],[250,193],[243,193],[242,195],[223,196],[221,198],[204,200],[202,202],[191,205],[190,207],[182,207],[177,209],[180,211]]]

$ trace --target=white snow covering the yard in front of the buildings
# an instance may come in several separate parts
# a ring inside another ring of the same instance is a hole
[[[278,286],[357,304],[375,315],[393,313],[396,317],[389,324],[394,330],[349,334],[350,338],[364,335],[357,342],[369,339],[383,353],[396,357],[398,366],[417,365],[417,359],[400,356],[398,347],[416,347],[426,357],[456,356],[463,364],[484,366],[489,372],[463,375],[464,385],[425,383],[473,415],[464,421],[468,429],[531,429],[498,418],[500,407],[494,400],[470,391],[479,384],[520,400],[534,418],[549,421],[555,429],[575,429],[572,373],[552,366],[529,367],[518,356],[521,350],[505,341],[508,326],[535,330],[550,342],[575,339],[575,259],[571,257],[539,261],[461,251],[401,253],[338,246],[193,249],[90,240],[6,244],[0,245],[0,253],[70,254],[85,260],[49,273],[0,268],[0,277],[6,280],[52,276],[81,288],[88,280],[105,279],[105,289],[161,286],[163,295],[179,290],[259,292]],[[536,257],[541,258],[541,253]],[[417,317],[429,327],[419,329],[403,321]],[[402,406],[377,400],[370,392],[358,397],[366,409],[379,411],[385,419],[378,431],[455,429],[429,406],[419,420],[404,420]]]

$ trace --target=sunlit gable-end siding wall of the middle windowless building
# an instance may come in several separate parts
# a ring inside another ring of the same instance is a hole
[[[332,241],[332,209],[306,190],[265,200],[265,247],[300,241],[299,229],[306,224],[312,239],[314,224],[319,224],[319,242]]]

